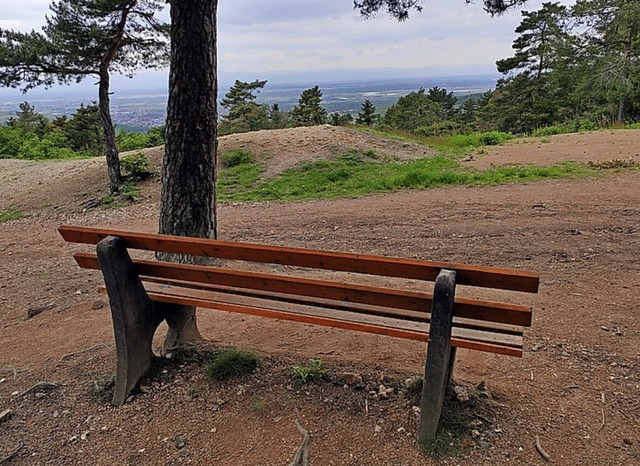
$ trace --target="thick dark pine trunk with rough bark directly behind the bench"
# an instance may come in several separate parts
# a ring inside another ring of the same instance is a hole
[[[159,231],[216,237],[217,0],[171,0],[171,67]],[[190,257],[162,257],[193,262]],[[188,344],[198,335],[193,308],[167,338]],[[173,316],[175,318],[175,315]]]

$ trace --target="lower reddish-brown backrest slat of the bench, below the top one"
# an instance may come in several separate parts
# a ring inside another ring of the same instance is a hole
[[[74,258],[80,267],[88,269],[100,268],[95,254],[76,253]],[[314,296],[412,311],[428,312],[431,309],[432,296],[428,293],[397,291],[371,286],[142,259],[136,259],[134,263],[138,273],[143,276],[235,286],[274,293]],[[513,304],[456,298],[454,315],[456,317],[501,324],[531,326],[531,309]]]

